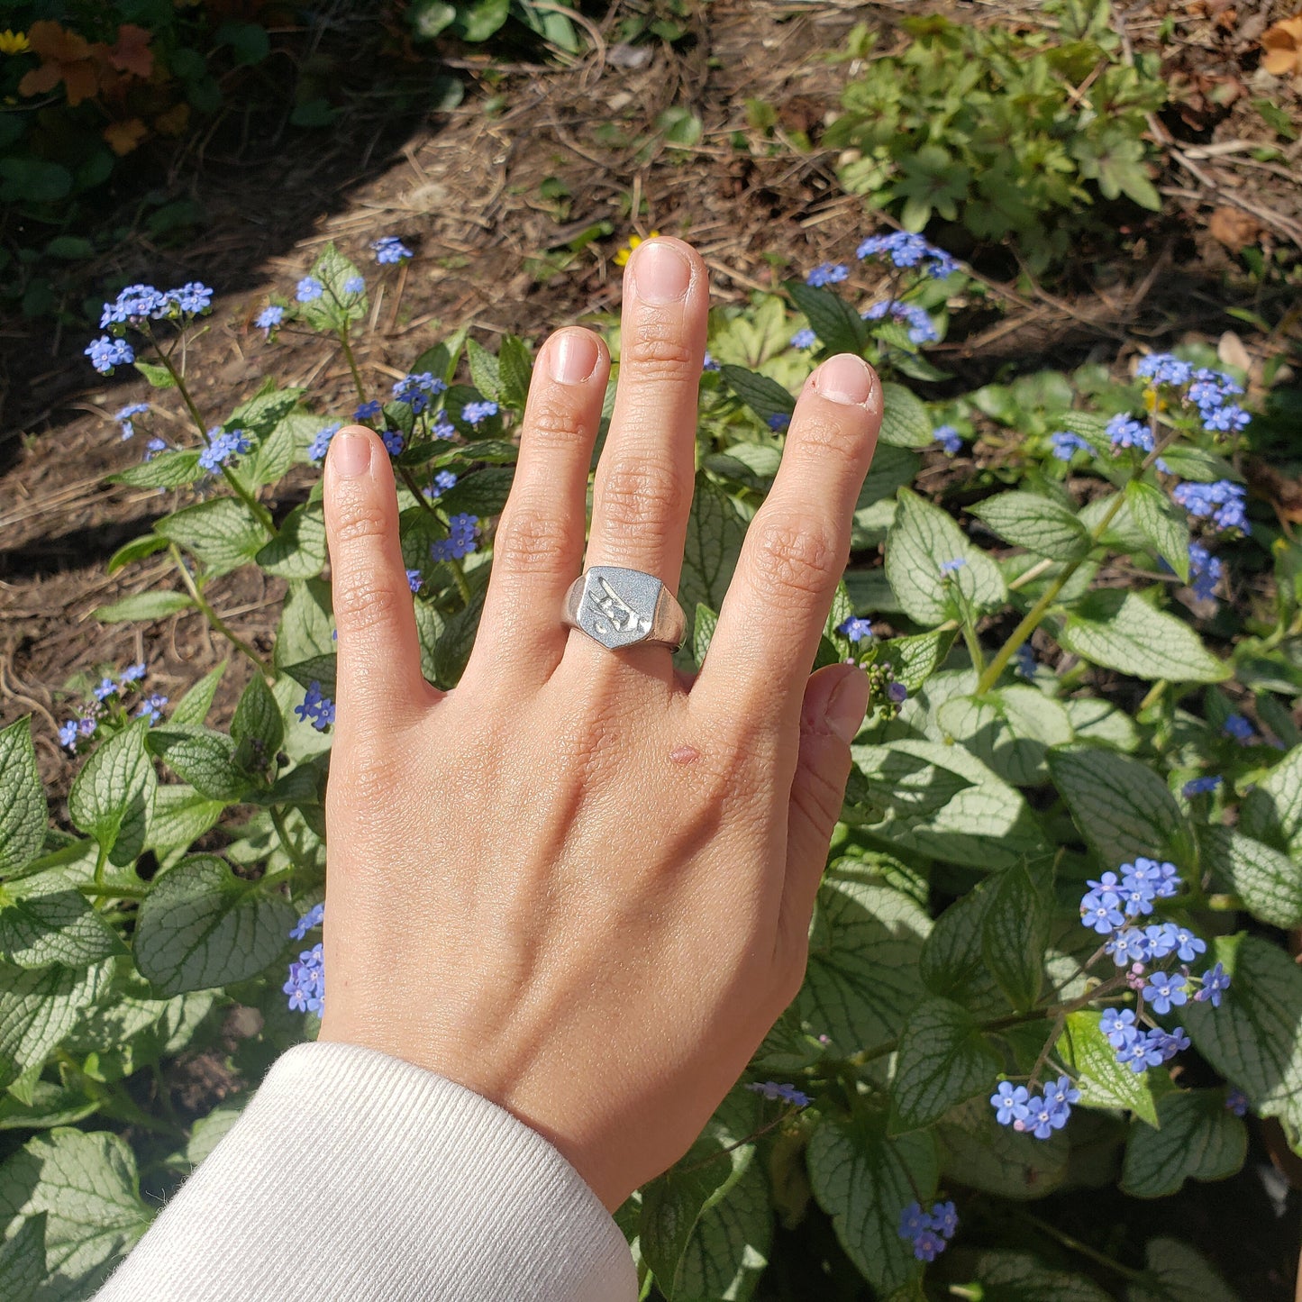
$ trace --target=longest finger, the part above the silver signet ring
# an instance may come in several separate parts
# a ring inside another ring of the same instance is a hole
[[[678,589],[697,467],[697,396],[710,283],[681,240],[638,246],[624,275],[620,378],[596,467],[585,565]]]

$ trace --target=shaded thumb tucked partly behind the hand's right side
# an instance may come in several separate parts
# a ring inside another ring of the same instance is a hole
[[[863,727],[868,677],[858,665],[829,664],[812,674],[801,706],[801,754],[786,816],[783,921],[802,943],[841,816],[850,776],[850,742]]]

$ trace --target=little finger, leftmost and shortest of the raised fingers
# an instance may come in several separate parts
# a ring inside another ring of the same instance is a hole
[[[324,490],[340,725],[405,719],[428,689],[398,543],[393,469],[371,430],[348,426],[335,435]]]

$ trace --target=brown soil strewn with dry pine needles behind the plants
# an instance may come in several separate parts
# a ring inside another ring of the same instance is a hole
[[[594,25],[602,43],[575,66],[506,65],[505,79],[493,85],[497,73],[471,51],[453,60],[471,83],[454,112],[395,121],[381,100],[380,109],[359,108],[323,133],[328,139],[315,151],[286,156],[275,141],[262,142],[260,155],[250,148],[208,158],[198,176],[185,178],[211,214],[203,240],[167,255],[141,240],[118,251],[116,268],[159,284],[203,279],[221,290],[190,358],[204,413],[224,417],[268,368],[281,383],[309,388],[323,413],[352,408],[336,348],[319,339],[268,348],[251,326],[266,296],[290,289],[329,240],[372,270],[366,245],[379,234],[398,234],[417,250],[374,296],[359,362],[376,391],[457,326],[471,326],[482,339],[504,331],[539,336],[616,309],[620,271],[611,258],[633,230],[690,240],[712,271],[720,302],[743,302],[824,258],[848,259],[879,223],[838,190],[835,155],[818,148],[850,70],[825,55],[857,21],[883,27],[879,48],[889,49],[902,39],[891,30],[901,13],[950,7],[717,0],[702,7],[691,39],[678,48],[608,44],[618,8]],[[970,17],[966,7],[953,8]],[[1129,20],[1137,46],[1154,35],[1160,8]],[[1172,154],[1165,177],[1172,211],[1161,219],[1130,212],[1131,221],[1147,224],[1130,229],[1128,253],[1078,267],[1055,294],[1025,280],[1019,289],[993,284],[1009,268],[997,251],[978,256],[1001,311],[960,323],[945,345],[950,370],[980,381],[1009,363],[1021,370],[1087,355],[1111,359],[1126,336],[1169,342],[1200,331],[1215,340],[1233,324],[1226,297],[1250,298],[1251,290],[1232,284],[1237,263],[1208,221],[1225,210],[1240,217],[1237,234],[1255,224],[1249,242],[1269,250],[1292,240],[1302,247],[1302,197],[1286,168],[1253,165],[1237,146],[1221,152],[1207,146],[1273,141],[1249,103],[1262,94],[1254,89],[1255,27],[1290,8],[1269,4],[1249,21],[1226,22],[1215,3],[1197,13],[1180,7],[1172,66],[1187,103],[1161,124],[1180,142],[1172,150],[1184,151]],[[1038,5],[1021,4],[993,17],[1035,22],[1038,14]],[[1230,83],[1242,94],[1217,91]],[[497,112],[486,112],[491,95],[503,96]],[[746,124],[751,98],[779,113],[767,152]],[[703,118],[695,147],[646,145],[656,116],[671,105]],[[733,132],[755,143],[750,155],[733,147]],[[786,147],[789,133],[799,132],[814,141],[811,151]],[[1297,159],[1294,146],[1294,168]],[[568,204],[543,198],[548,177],[564,182]],[[589,243],[565,271],[549,277],[539,271],[540,258],[559,256],[566,241],[602,219],[612,223],[611,238]],[[1219,220],[1220,234],[1230,234],[1229,217]],[[0,381],[8,400],[0,432],[0,724],[35,713],[42,766],[59,788],[72,771],[55,740],[72,676],[146,659],[152,689],[176,699],[225,650],[197,615],[145,626],[105,626],[92,615],[128,592],[169,583],[168,565],[156,556],[115,577],[104,572],[117,547],[174,506],[171,495],[103,483],[139,458],[142,437],[121,443],[109,415],[148,397],[143,384],[121,371],[116,380],[98,380],[79,355],[79,337],[21,322],[0,323],[0,337],[12,342],[3,367],[7,395]],[[1245,335],[1245,342],[1255,355],[1259,341]],[[30,380],[20,385],[17,376]],[[156,405],[180,432],[174,398],[163,395]],[[309,482],[309,471],[296,471],[272,505],[301,500]],[[267,648],[281,591],[246,570],[214,585],[210,599],[236,631]],[[228,678],[219,711],[243,674]]]

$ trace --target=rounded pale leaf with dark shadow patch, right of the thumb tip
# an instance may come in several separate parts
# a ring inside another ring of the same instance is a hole
[[[1014,786],[1046,781],[1048,747],[1073,736],[1059,702],[1017,684],[980,697],[950,697],[936,711],[936,723]]]

